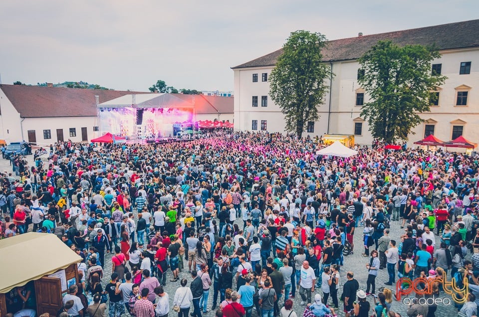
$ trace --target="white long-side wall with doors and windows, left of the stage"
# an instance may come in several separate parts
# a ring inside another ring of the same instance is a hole
[[[100,136],[100,132],[93,131],[98,127],[97,117],[68,117],[68,118],[25,118],[22,123],[24,140],[28,141],[28,131],[35,131],[38,145],[48,146],[58,141],[57,129],[63,130],[63,140],[82,142],[81,128],[87,128],[87,141]],[[76,136],[70,137],[70,128],[75,128]],[[43,130],[50,130],[50,139],[45,139]]]

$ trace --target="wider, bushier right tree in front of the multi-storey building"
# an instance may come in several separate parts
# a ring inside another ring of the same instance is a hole
[[[423,122],[420,113],[429,112],[445,76],[432,74],[431,62],[441,55],[424,45],[400,47],[390,40],[379,41],[360,59],[364,75],[358,80],[371,98],[363,105],[374,138],[387,143],[407,140],[411,129]]]

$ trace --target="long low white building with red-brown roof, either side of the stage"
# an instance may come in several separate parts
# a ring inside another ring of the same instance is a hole
[[[21,85],[0,85],[0,139],[27,141],[49,146],[57,141],[87,142],[100,131],[99,104],[125,97],[130,106],[132,95],[145,92],[94,90]],[[128,95],[128,96],[127,96]],[[195,108],[195,120],[233,122],[233,98],[171,94],[175,100]]]

